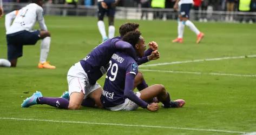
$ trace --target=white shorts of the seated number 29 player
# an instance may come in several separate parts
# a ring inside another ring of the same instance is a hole
[[[140,92],[135,92],[137,97],[140,97]],[[133,111],[139,107],[136,103],[132,102],[129,98],[126,98],[123,104],[116,105],[114,107],[107,107],[108,110],[111,111]]]

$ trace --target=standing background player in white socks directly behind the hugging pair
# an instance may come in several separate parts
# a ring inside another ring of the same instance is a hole
[[[104,42],[108,38],[113,38],[115,35],[114,17],[115,7],[121,0],[98,0],[98,28]],[[103,22],[104,15],[108,16],[108,37]]]

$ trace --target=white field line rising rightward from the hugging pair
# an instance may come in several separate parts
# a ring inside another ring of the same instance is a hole
[[[194,63],[194,62],[205,62],[205,61],[224,60],[224,59],[255,58],[255,57],[256,57],[256,55],[221,57],[221,58],[207,58],[207,59],[195,59],[195,60],[186,60],[186,61],[180,61],[180,62],[167,62],[167,63],[140,65],[140,67],[160,66],[160,65],[173,65],[173,64]]]

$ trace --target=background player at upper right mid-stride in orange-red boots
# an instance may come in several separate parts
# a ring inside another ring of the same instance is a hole
[[[188,26],[196,35],[196,43],[200,43],[202,38],[204,38],[204,33],[200,32],[196,26],[189,21],[189,12],[193,5],[193,0],[176,0],[174,4],[174,9],[178,10],[178,5],[180,6],[179,19],[178,19],[178,38],[174,39],[173,43],[183,43],[183,32],[185,25]]]

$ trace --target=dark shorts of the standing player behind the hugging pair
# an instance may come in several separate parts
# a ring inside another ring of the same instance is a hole
[[[98,17],[103,19],[104,15],[107,14],[108,17],[114,17],[115,16],[115,8],[111,8],[111,4],[107,4],[108,9],[104,9],[101,6],[101,3],[98,3]]]

